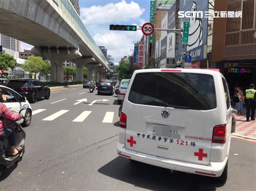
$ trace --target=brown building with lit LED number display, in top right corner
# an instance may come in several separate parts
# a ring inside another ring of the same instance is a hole
[[[256,83],[256,0],[215,0],[217,11],[242,11],[241,18],[214,20],[212,62],[229,83]]]

